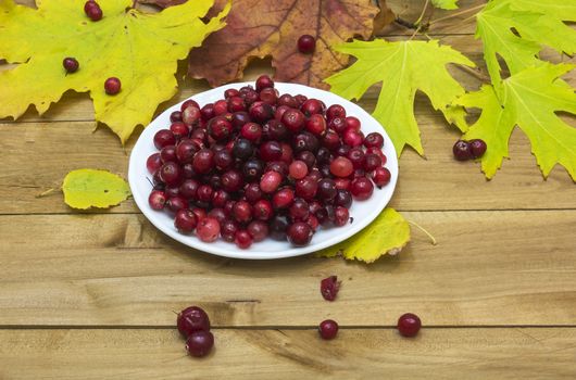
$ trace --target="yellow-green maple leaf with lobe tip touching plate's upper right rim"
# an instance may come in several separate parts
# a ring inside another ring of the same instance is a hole
[[[326,79],[330,90],[346,99],[360,99],[371,86],[381,81],[373,116],[386,128],[398,155],[406,144],[424,153],[414,117],[416,90],[426,93],[448,121],[463,131],[466,129],[463,109],[448,106],[464,94],[464,89],[446,66],[449,63],[474,66],[460,52],[439,46],[436,40],[388,42],[383,39],[354,40],[336,50],[354,55],[358,61]]]

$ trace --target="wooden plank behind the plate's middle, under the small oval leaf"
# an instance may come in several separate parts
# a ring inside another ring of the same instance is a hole
[[[406,151],[400,160],[400,180],[391,205],[403,211],[576,208],[576,187],[562,167],[543,180],[529,151],[528,139],[516,130],[510,142],[512,160],[486,181],[474,163],[452,157],[458,134],[438,116],[421,117],[426,160]],[[105,168],[127,177],[130,142],[123,150],[107,130],[92,132],[90,123],[0,124],[0,214],[73,213],[59,188],[67,172]],[[143,165],[143,163],[142,163]],[[464,186],[465,183],[465,186]],[[554,197],[550,197],[553,193]],[[133,201],[97,213],[136,213]]]

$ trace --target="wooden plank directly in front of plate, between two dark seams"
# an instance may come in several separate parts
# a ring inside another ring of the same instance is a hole
[[[409,212],[427,228],[398,256],[227,259],[176,243],[140,215],[0,217],[0,325],[172,326],[200,304],[214,326],[574,325],[576,211]],[[336,302],[320,280],[343,280]]]

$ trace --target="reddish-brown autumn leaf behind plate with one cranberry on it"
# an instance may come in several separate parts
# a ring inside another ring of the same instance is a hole
[[[211,12],[215,14],[226,2],[216,0]],[[234,0],[227,26],[191,51],[189,74],[218,86],[241,78],[250,60],[272,56],[276,80],[326,88],[323,80],[349,62],[333,47],[352,37],[368,38],[378,14],[389,14],[385,2],[379,3],[381,13],[372,0]],[[312,54],[297,49],[298,38],[306,34],[316,38]]]

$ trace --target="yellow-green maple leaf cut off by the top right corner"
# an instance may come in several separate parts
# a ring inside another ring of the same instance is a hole
[[[576,30],[564,22],[576,21],[576,0],[494,0],[476,15],[476,37],[484,43],[490,78],[500,93],[501,56],[512,75],[543,64],[543,46],[576,52]]]

